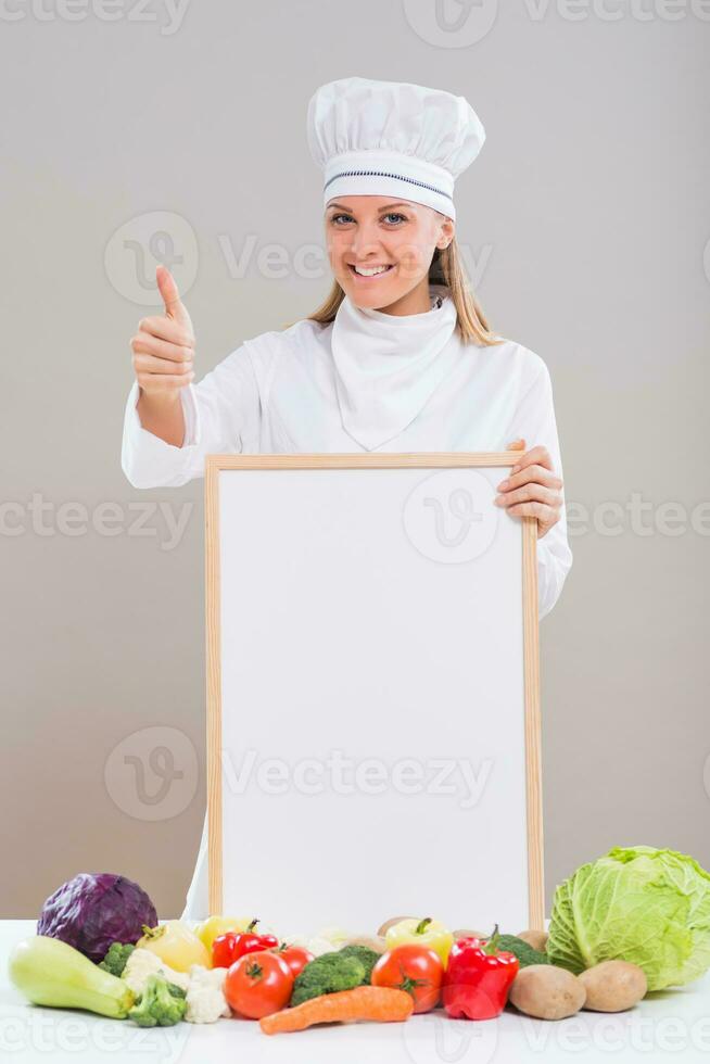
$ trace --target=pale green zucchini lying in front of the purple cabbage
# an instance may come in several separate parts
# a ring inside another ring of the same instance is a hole
[[[73,946],[47,935],[17,942],[9,974],[13,985],[36,1005],[85,1009],[125,1019],[136,1001],[123,979],[104,972]]]

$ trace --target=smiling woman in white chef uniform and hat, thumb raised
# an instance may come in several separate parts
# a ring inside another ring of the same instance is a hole
[[[330,294],[193,383],[192,322],[159,266],[165,313],[131,340],[124,472],[164,487],[203,476],[207,454],[521,449],[494,502],[536,519],[542,618],[572,563],[549,372],[490,331],[455,236],[454,182],[483,126],[464,97],[351,77],[314,93],[307,139]],[[207,913],[206,838],[205,821],[185,919]]]

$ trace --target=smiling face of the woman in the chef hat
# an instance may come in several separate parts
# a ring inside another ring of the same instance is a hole
[[[360,307],[428,309],[429,266],[454,223],[422,203],[389,195],[344,195],[326,207],[328,257],[335,279]],[[400,302],[403,301],[403,302]],[[422,302],[423,301],[423,302]]]

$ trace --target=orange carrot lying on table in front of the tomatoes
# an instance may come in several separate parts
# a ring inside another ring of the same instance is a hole
[[[293,1009],[282,1009],[259,1019],[265,1035],[287,1030],[305,1030],[313,1024],[346,1023],[350,1019],[379,1019],[382,1023],[408,1019],[414,1012],[414,999],[406,990],[393,987],[355,987],[321,993]]]

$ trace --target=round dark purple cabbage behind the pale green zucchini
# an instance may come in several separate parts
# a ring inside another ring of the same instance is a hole
[[[157,913],[142,887],[111,872],[79,872],[42,905],[37,934],[60,938],[96,964],[112,942],[136,943]]]

